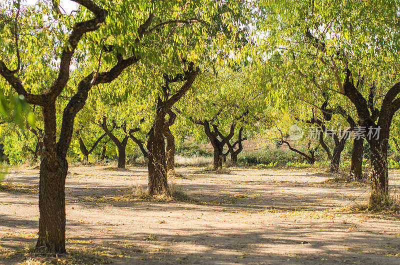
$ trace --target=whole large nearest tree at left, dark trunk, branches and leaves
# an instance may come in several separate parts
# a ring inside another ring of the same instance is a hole
[[[65,156],[75,115],[84,106],[93,86],[113,81],[125,68],[144,56],[151,58],[151,54],[145,52],[150,49],[142,44],[145,42],[143,38],[150,38],[157,32],[156,29],[166,24],[176,24],[178,19],[176,16],[169,16],[169,19],[161,11],[173,8],[175,1],[103,1],[102,7],[91,0],[74,0],[78,8],[73,15],[63,14],[57,2],[39,2],[34,8],[25,9],[19,1],[14,5],[7,2],[1,6],[2,12],[11,13],[13,24],[0,33],[7,44],[6,52],[1,54],[0,75],[3,85],[12,87],[25,102],[41,107],[44,149],[40,163],[40,217],[36,249],[63,253],[64,185],[68,168]],[[20,18],[28,20],[26,24],[30,27],[19,26]],[[36,41],[38,38],[40,45]],[[57,46],[54,43],[62,44]],[[85,75],[71,79],[71,63],[84,68]],[[52,83],[37,85],[41,76],[52,75],[55,75]],[[67,83],[74,89],[65,89]],[[73,90],[63,110],[57,137],[57,99],[61,93]]]

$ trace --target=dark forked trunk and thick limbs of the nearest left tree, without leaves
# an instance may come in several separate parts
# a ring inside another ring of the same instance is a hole
[[[62,47],[59,56],[59,71],[57,78],[42,94],[31,94],[26,91],[23,83],[14,76],[19,70],[19,60],[16,70],[9,70],[0,60],[0,75],[23,95],[29,104],[40,105],[43,114],[43,157],[40,163],[39,179],[39,231],[36,249],[55,253],[65,252],[65,177],[68,163],[65,159],[72,137],[74,117],[85,104],[88,91],[93,85],[109,83],[126,67],[136,63],[140,56],[132,55],[126,59],[117,53],[117,62],[109,71],[91,72],[81,79],[76,93],[70,98],[62,113],[61,129],[56,141],[56,108],[55,101],[64,89],[70,74],[70,62],[81,37],[90,31],[98,29],[107,16],[107,10],[100,8],[90,0],[77,1],[93,13],[89,20],[76,22],[71,28],[68,39]],[[138,27],[137,39],[151,24],[153,13]],[[101,56],[99,56],[101,58]]]

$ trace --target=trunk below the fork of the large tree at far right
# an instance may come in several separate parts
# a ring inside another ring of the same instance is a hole
[[[387,140],[371,140],[371,195],[370,205],[379,205],[387,202],[389,193],[389,177],[387,169]]]

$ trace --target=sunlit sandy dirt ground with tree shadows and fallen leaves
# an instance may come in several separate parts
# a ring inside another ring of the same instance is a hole
[[[400,264],[400,216],[347,209],[365,203],[364,184],[332,182],[323,169],[227,170],[177,168],[169,181],[190,199],[162,201],[129,196],[145,188],[144,167],[70,167],[68,262]],[[12,168],[4,181],[0,263],[9,264],[37,238],[38,169]],[[400,172],[389,182],[398,190]]]

